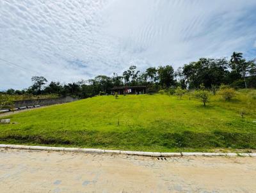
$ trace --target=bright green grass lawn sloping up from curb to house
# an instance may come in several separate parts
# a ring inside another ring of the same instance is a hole
[[[0,125],[0,143],[143,151],[255,150],[254,96],[255,90],[239,91],[231,102],[211,96],[206,107],[189,96],[96,96],[7,116],[19,124]]]

